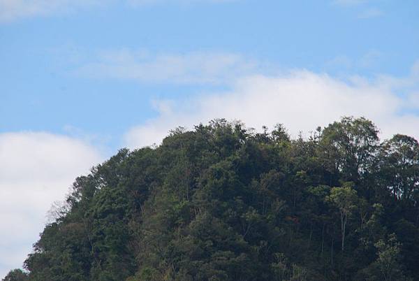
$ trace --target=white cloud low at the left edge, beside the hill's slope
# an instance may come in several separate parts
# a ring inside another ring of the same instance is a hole
[[[39,132],[0,134],[0,277],[31,252],[51,204],[101,160],[75,138]]]

